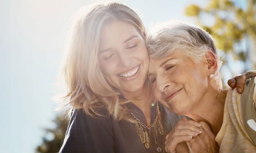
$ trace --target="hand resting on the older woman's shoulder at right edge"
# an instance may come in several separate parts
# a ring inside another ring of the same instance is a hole
[[[237,75],[232,79],[229,79],[229,87],[236,87],[237,92],[242,93],[244,91],[245,80],[253,76],[256,76],[256,71],[247,71],[244,74]]]

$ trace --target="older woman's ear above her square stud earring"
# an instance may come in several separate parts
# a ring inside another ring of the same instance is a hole
[[[208,65],[208,76],[210,76],[210,74],[215,74],[218,69],[216,56],[212,51],[206,51],[204,56],[206,58],[206,64]]]

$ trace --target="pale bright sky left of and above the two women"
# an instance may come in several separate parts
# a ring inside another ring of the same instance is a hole
[[[66,23],[93,0],[1,0],[1,153],[33,153],[43,129],[53,127],[52,100],[63,53]],[[141,15],[145,26],[180,19],[191,4],[206,0],[120,0]]]

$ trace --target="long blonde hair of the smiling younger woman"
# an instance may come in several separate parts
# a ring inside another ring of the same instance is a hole
[[[64,76],[68,93],[64,97],[75,109],[83,108],[94,116],[97,108],[106,107],[117,119],[127,119],[125,98],[105,80],[98,61],[99,39],[102,27],[112,20],[133,25],[145,37],[145,28],[139,16],[128,6],[119,3],[95,5],[89,12],[85,8],[76,14],[69,31],[68,55]],[[123,102],[123,103],[122,103]]]

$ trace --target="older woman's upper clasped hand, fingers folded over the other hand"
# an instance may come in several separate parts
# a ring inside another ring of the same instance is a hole
[[[192,137],[196,137],[199,133],[202,133],[198,128],[200,126],[199,123],[188,121],[187,118],[183,117],[166,136],[165,151],[167,153],[176,153],[178,143],[190,141]]]

